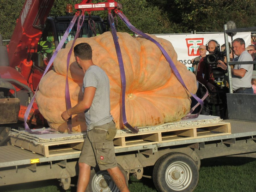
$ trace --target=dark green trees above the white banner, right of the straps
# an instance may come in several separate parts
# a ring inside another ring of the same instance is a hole
[[[237,28],[256,26],[255,0],[147,0],[159,6],[168,19],[183,32],[223,31],[223,25],[233,20]]]

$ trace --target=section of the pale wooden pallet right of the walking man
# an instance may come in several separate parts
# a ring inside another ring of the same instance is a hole
[[[114,145],[116,149],[119,149],[145,144],[158,144],[168,141],[205,138],[228,134],[231,134],[230,123],[219,122],[189,127],[151,130],[139,132],[138,134],[117,134],[114,138]]]

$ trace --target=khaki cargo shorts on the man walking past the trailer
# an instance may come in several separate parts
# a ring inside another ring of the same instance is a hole
[[[98,163],[100,170],[117,166],[113,139],[116,136],[114,121],[102,126],[95,126],[87,132],[79,163],[84,162],[91,167]]]

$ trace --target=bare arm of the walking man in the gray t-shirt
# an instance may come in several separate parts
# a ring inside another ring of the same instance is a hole
[[[64,111],[61,114],[62,119],[67,121],[71,115],[82,113],[88,108],[90,108],[95,95],[95,91],[96,91],[95,87],[86,87],[84,91],[83,100],[80,101],[73,108],[70,108],[67,111]]]

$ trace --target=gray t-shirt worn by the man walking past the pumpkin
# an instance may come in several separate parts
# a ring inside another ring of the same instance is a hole
[[[113,120],[110,114],[110,81],[106,73],[98,66],[90,66],[85,72],[83,86],[84,89],[96,88],[91,107],[85,111],[87,130]]]

